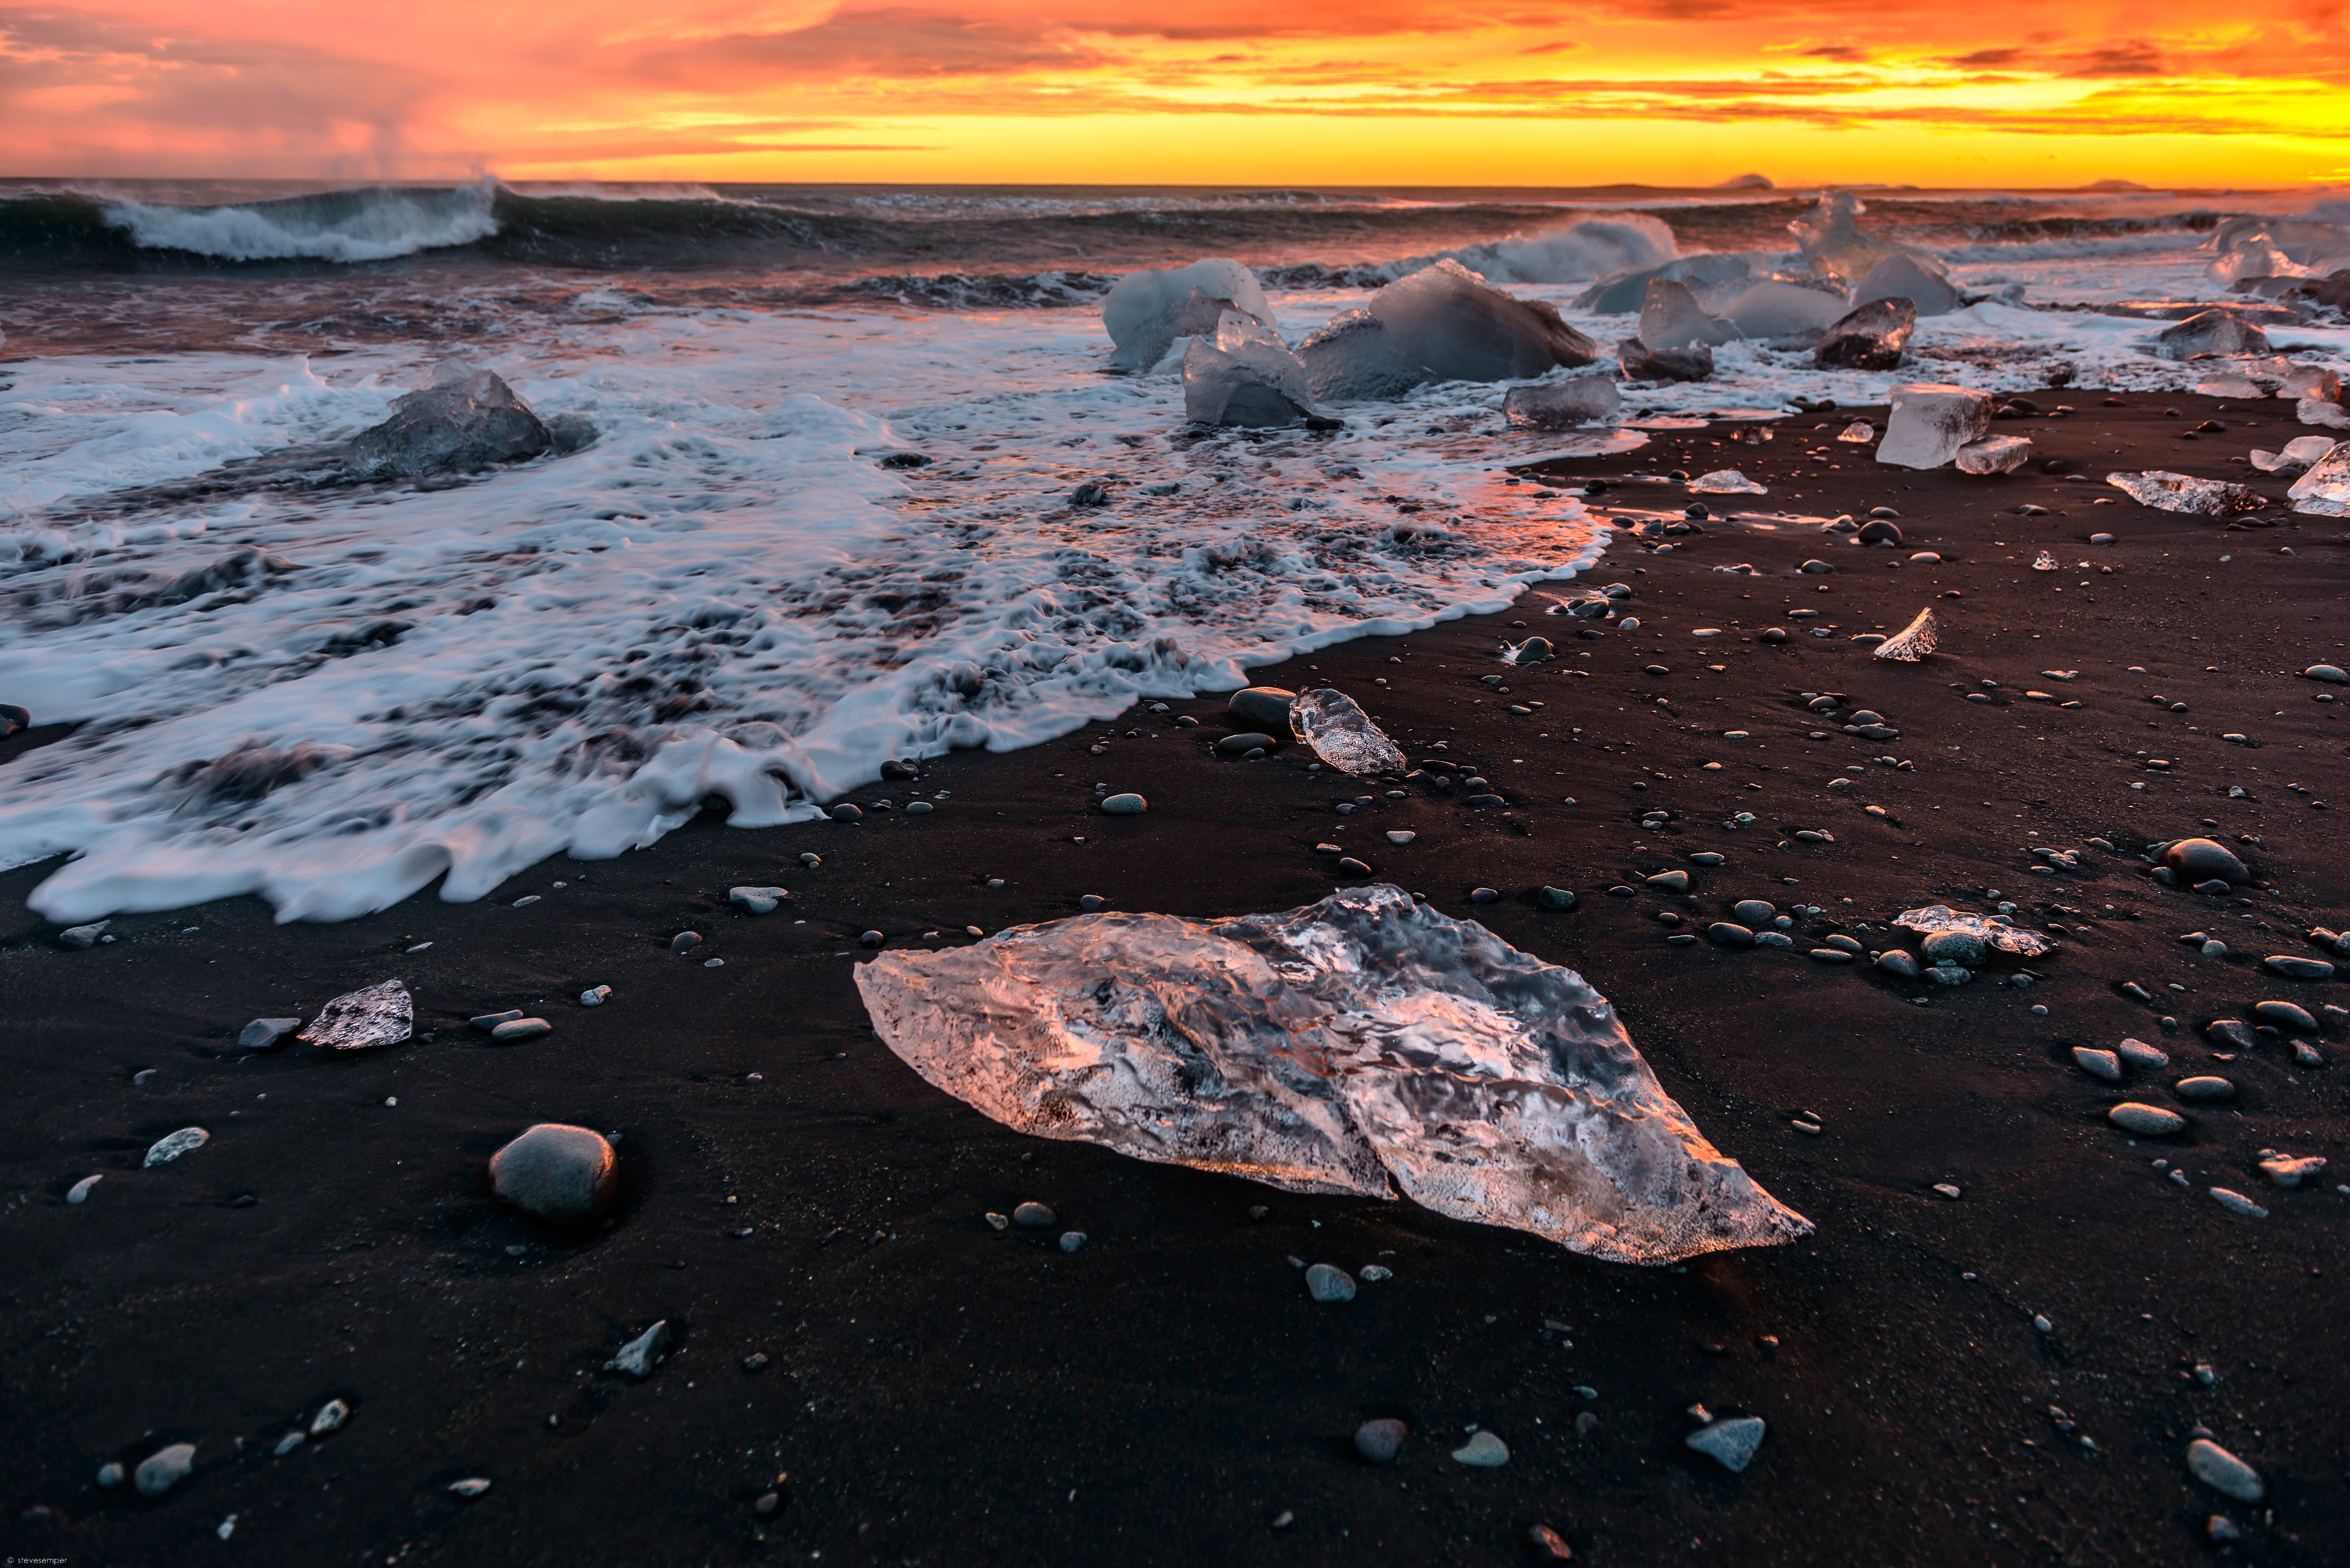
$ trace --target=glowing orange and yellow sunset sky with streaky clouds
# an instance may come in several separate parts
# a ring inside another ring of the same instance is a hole
[[[2350,179],[2343,0],[0,7],[0,174]]]

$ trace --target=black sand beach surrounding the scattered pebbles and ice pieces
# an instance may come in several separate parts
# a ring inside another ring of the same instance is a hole
[[[1222,698],[1198,698],[935,759],[919,788],[952,795],[924,818],[902,811],[905,783],[860,790],[900,809],[858,825],[736,832],[705,816],[482,903],[418,896],[348,924],[275,926],[233,900],[120,917],[115,943],[68,952],[24,910],[49,867],[0,877],[5,1552],[1513,1563],[1535,1561],[1528,1530],[1546,1523],[1591,1563],[2350,1563],[2350,1039],[2326,1027],[2326,1065],[2305,1067],[2280,1039],[2214,1060],[2202,1037],[2270,997],[2350,1004],[2341,978],[2261,969],[2350,919],[2350,701],[2312,701],[2329,689],[2301,677],[2343,663],[2350,529],[2289,515],[2282,482],[2230,463],[2303,435],[2289,404],[2035,400],[2077,404],[2000,425],[2042,458],[2092,480],[2254,480],[2270,505],[2223,524],[2037,470],[1880,468],[1831,440],[1882,409],[1784,418],[1767,444],[1718,423],[1537,480],[1737,465],[1770,484],[1765,508],[1889,505],[1904,545],[1727,522],[1671,552],[1619,536],[1560,595],[1260,672],[1354,693],[1415,762],[1478,769],[1504,809],[1426,783],[1354,788],[1290,748],[1220,757]],[[2186,440],[2207,418],[2225,430]],[[1819,447],[1828,463],[1810,461]],[[1617,484],[1605,501],[1687,496]],[[2117,538],[2089,545],[2096,531]],[[2061,569],[2033,571],[2040,550]],[[1800,574],[1812,557],[1835,571]],[[1755,574],[1720,571],[1741,562]],[[1579,637],[1584,623],[1542,614],[1596,583],[1633,588],[1619,611],[1638,632]],[[1943,625],[1925,663],[1852,642],[1925,607]],[[1791,639],[1762,642],[1772,625]],[[1497,663],[1532,632],[1556,663]],[[1873,708],[1899,738],[1847,736],[1802,693]],[[1184,715],[1201,724],[1177,729]],[[0,766],[54,733],[0,745]],[[1149,813],[1102,816],[1095,783],[1144,792]],[[1356,795],[1375,799],[1337,816]],[[1640,825],[1654,806],[1676,813],[1661,832]],[[1739,811],[1755,820],[1725,832]],[[1389,827],[1417,839],[1394,849]],[[2186,835],[2235,846],[2258,884],[2214,898],[2148,879],[2134,851]],[[867,929],[891,947],[964,943],[964,926],[1060,919],[1086,893],[1285,910],[1335,886],[1325,842],[1582,971],[1697,1126],[1817,1234],[1636,1269],[1403,1201],[1041,1143],[916,1079],[858,1004]],[[2084,853],[2033,875],[2035,846]],[[1697,851],[1727,863],[1694,867]],[[1692,872],[1687,896],[1640,884],[1668,867]],[[728,907],[728,886],[766,882],[790,889],[783,910]],[[1539,907],[1544,884],[1577,907]],[[1624,884],[1640,891],[1607,893]],[[1502,898],[1471,905],[1478,886]],[[1805,957],[1831,933],[1885,947],[1918,905],[1988,912],[1990,889],[2061,943],[2028,990]],[[1661,912],[1704,931],[1741,898],[1824,914],[1791,950],[1666,943]],[[686,929],[707,943],[672,957]],[[2228,957],[2200,957],[2190,931]],[[390,976],[416,992],[409,1044],[235,1048],[249,1018],[310,1016]],[[590,985],[611,1001],[580,1009]],[[491,1046],[465,1025],[510,1006],[555,1032]],[[2075,1070],[2073,1046],[2122,1037],[2171,1067],[2127,1091]],[[2122,1098],[2169,1103],[2186,1072],[2240,1095],[2183,1107],[2193,1126],[2169,1140],[2103,1119]],[[1800,1112],[1817,1135],[1793,1128]],[[566,1239],[489,1197],[484,1161],[533,1121],[625,1133],[616,1225]],[[212,1143],[141,1171],[183,1126]],[[2336,1164],[2280,1192],[2261,1150]],[[89,1173],[103,1180],[68,1206]],[[1029,1199],[1088,1244],[987,1225]],[[1300,1262],[1394,1279],[1316,1305]],[[604,1371],[656,1319],[672,1356],[642,1382]],[[275,1458],[329,1399],[348,1425]],[[1770,1422],[1744,1474],[1683,1446],[1692,1406]],[[1384,1415],[1412,1432],[1375,1467],[1351,1432]],[[1471,1425],[1509,1443],[1509,1465],[1448,1458]],[[2261,1505],[2188,1476],[2197,1427],[2261,1472]],[[160,1502],[96,1486],[101,1465],[172,1441],[197,1446],[195,1472]],[[468,1476],[491,1488],[446,1490]],[[2214,1514],[2240,1540],[2211,1542]]]

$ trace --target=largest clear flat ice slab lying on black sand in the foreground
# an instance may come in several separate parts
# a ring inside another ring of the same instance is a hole
[[[1812,1229],[1706,1143],[1582,976],[1394,886],[1220,922],[1079,914],[855,978],[914,1072],[1043,1138],[1290,1192],[1401,1187],[1617,1262]]]

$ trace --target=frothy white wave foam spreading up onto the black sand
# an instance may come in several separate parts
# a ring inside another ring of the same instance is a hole
[[[707,797],[745,827],[815,816],[888,757],[1502,609],[1603,538],[1473,437],[1422,435],[1490,423],[1495,388],[1189,433],[1177,381],[1100,374],[1090,310],[609,306],[494,360],[602,440],[454,489],[78,501],[374,423],[421,360],[12,367],[0,668],[82,724],[0,771],[0,865],[75,856],[38,912],[479,898]],[[1109,503],[1072,505],[1083,482]]]

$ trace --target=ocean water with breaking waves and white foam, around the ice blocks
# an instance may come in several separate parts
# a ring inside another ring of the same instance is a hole
[[[2270,209],[1868,193],[1873,233],[2021,303],[1920,322],[1894,374],[1730,343],[1713,381],[1633,388],[1622,430],[1513,433],[1483,383],[1198,430],[1180,376],[1104,369],[1100,299],[1137,266],[1238,256],[1297,341],[1452,254],[1612,346],[1636,320],[1574,310],[1589,280],[1697,249],[1800,268],[1812,205],[0,183],[0,701],[75,726],[0,766],[0,865],[70,856],[33,896],[61,922],[233,893],[341,919],[712,802],[811,818],[891,757],[1032,745],[1567,581],[1607,522],[1504,465],[1633,447],[1640,416],[2059,367],[2190,388],[2207,367],[2148,355],[2157,324],[2096,308],[2225,299],[2209,235]],[[2338,324],[2272,336],[2350,362]],[[343,482],[334,444],[446,357],[597,442]]]

